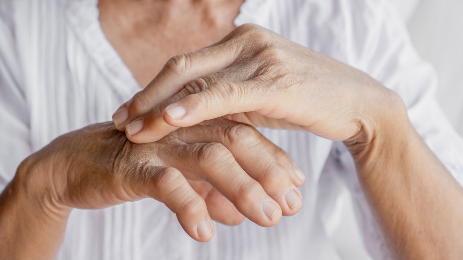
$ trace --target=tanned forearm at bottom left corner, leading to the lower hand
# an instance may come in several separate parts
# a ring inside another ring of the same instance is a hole
[[[40,178],[25,173],[26,168],[20,166],[0,194],[0,259],[54,259],[69,210],[56,207],[51,196],[40,191],[47,189]]]

